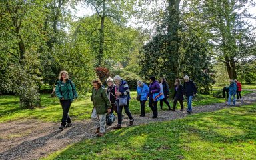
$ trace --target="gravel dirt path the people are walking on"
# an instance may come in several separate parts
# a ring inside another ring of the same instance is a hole
[[[243,101],[237,101],[237,106],[256,103],[256,92],[243,97]],[[225,103],[193,107],[193,113],[217,111],[228,108]],[[167,121],[180,119],[187,116],[185,111],[159,111],[159,118],[152,119],[151,113],[146,117],[133,115],[134,125],[141,125],[155,121]],[[123,120],[123,127],[127,127],[129,119]],[[116,123],[116,122],[115,122]],[[115,125],[115,124],[114,124]],[[113,126],[107,130],[113,129]],[[35,119],[21,119],[8,123],[0,123],[0,159],[39,159],[46,157],[69,144],[82,139],[95,137],[93,123],[87,121],[74,121],[73,126],[63,131],[59,130],[59,123],[42,123]]]

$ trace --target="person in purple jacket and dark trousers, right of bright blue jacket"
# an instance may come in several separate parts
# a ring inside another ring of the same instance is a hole
[[[149,93],[147,95],[147,97],[149,97],[149,107],[153,112],[152,118],[157,118],[157,101],[153,100],[153,94],[160,92],[160,85],[158,81],[155,80],[154,76],[151,76],[149,80],[150,80]]]

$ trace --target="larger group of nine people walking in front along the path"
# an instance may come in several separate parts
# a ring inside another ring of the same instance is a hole
[[[184,77],[184,86],[181,84],[181,79],[175,80],[175,89],[173,97],[173,109],[167,99],[169,98],[169,86],[164,77],[161,77],[159,81],[154,76],[149,78],[150,85],[143,83],[143,81],[137,82],[137,100],[141,105],[141,117],[145,117],[145,104],[149,99],[149,107],[153,112],[152,118],[158,117],[157,103],[160,101],[160,109],[163,109],[163,102],[169,107],[169,110],[175,111],[177,101],[181,105],[181,111],[184,109],[183,95],[187,97],[187,113],[192,112],[192,99],[197,93],[195,83],[189,79],[187,75]],[[117,113],[117,125],[114,129],[120,129],[122,127],[123,109],[129,117],[128,125],[133,125],[134,119],[129,111],[130,90],[128,83],[121,79],[119,75],[115,75],[113,79],[109,77],[107,79],[106,89],[102,87],[102,82],[99,79],[92,81],[93,90],[91,94],[91,101],[93,102],[93,110],[91,112],[91,119],[95,125],[95,134],[98,137],[102,137],[105,133],[106,116],[109,113]],[[72,125],[69,117],[69,109],[73,99],[77,99],[77,91],[75,85],[69,79],[67,71],[61,71],[59,74],[59,81],[57,81],[55,93],[61,102],[63,109],[63,116],[61,119],[61,126],[59,129],[70,127]]]

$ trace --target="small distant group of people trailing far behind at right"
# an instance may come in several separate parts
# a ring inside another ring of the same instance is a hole
[[[237,95],[237,99],[242,99],[241,91],[242,91],[242,85],[237,79],[229,80],[230,85],[223,87],[223,98],[225,98],[225,93],[227,93],[228,101],[227,105],[231,105],[231,98],[233,97],[233,105],[235,105],[236,99],[235,95]]]

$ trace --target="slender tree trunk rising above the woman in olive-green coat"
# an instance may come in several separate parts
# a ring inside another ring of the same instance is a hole
[[[103,15],[101,16],[101,29],[99,30],[99,55],[98,55],[98,63],[97,67],[102,65],[103,61],[103,53],[104,53],[104,23],[105,23],[105,16],[106,16],[106,9],[105,9],[105,1],[102,2],[102,10]]]

